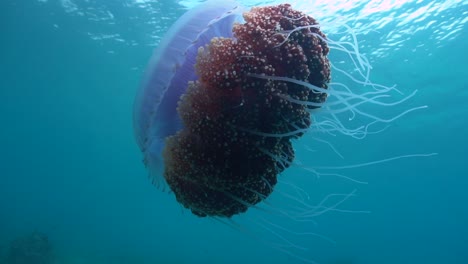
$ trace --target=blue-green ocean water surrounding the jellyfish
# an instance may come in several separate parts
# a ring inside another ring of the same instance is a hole
[[[298,141],[298,160],[343,166],[438,155],[340,172],[367,184],[291,169],[283,185],[300,186],[312,203],[353,193],[340,210],[312,222],[275,222],[255,210],[234,227],[195,217],[146,177],[132,106],[154,48],[196,3],[6,0],[0,3],[0,263],[8,263],[12,241],[35,231],[48,236],[54,263],[468,263],[468,2],[296,2],[329,37],[338,36],[338,21],[356,30],[374,82],[418,90],[391,111],[428,106],[363,140],[337,136],[333,145],[344,159]],[[288,206],[281,197],[271,203]],[[251,222],[265,218],[272,232],[253,229]],[[295,256],[278,251],[278,240],[291,242]]]

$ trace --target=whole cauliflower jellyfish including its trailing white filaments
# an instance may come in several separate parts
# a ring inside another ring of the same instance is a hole
[[[246,230],[233,219],[249,219],[255,209],[273,215],[256,215],[249,233],[314,263],[292,237],[330,240],[295,231],[281,219],[308,222],[346,211],[340,205],[354,190],[312,204],[310,188],[282,174],[294,167],[360,183],[336,171],[411,155],[319,167],[296,157],[296,149],[305,140],[318,142],[341,158],[327,135],[362,139],[425,107],[380,116],[379,108],[402,105],[416,92],[403,95],[373,83],[353,29],[343,29],[345,37],[333,40],[315,18],[289,4],[247,9],[235,1],[208,1],[183,15],[156,50],[135,101],[135,135],[153,182],[169,188],[194,215],[234,228]],[[330,61],[334,52],[352,71]],[[269,201],[272,194],[281,196],[281,206]],[[258,235],[257,227],[271,239]]]

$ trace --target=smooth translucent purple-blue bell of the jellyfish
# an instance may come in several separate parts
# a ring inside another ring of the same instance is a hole
[[[198,48],[214,37],[232,37],[241,12],[235,1],[205,2],[177,20],[151,58],[136,95],[133,126],[155,184],[165,184],[162,149],[165,138],[182,127],[177,102],[188,83],[198,78],[193,71]]]

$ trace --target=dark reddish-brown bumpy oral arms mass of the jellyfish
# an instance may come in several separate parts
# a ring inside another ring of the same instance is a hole
[[[231,217],[266,199],[294,159],[291,139],[311,125],[308,110],[327,97],[256,77],[327,89],[329,49],[315,19],[289,4],[255,7],[244,19],[234,25],[233,38],[213,38],[199,48],[199,78],[189,83],[177,109],[183,128],[163,150],[167,184],[198,216]]]

